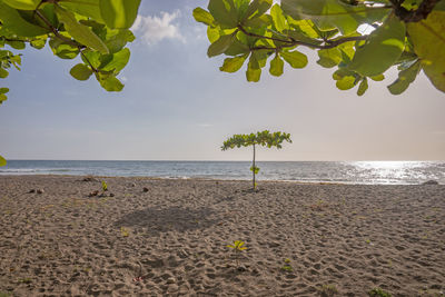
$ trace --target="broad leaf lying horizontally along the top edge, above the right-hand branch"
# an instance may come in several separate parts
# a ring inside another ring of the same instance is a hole
[[[338,28],[343,34],[356,31],[362,23],[373,23],[390,12],[385,7],[367,7],[363,1],[349,6],[340,0],[281,0],[285,13],[296,20],[313,20],[323,31]]]

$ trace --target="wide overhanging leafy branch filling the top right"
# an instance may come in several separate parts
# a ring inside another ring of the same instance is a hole
[[[280,2],[209,0],[208,10],[194,10],[208,27],[208,57],[227,57],[221,71],[236,72],[247,63],[247,80],[259,81],[269,63],[269,73],[279,77],[285,62],[306,67],[298,48],[307,47],[317,51],[318,65],[336,68],[333,78],[340,90],[358,86],[362,96],[368,79],[380,81],[397,67],[398,78],[388,86],[393,95],[404,92],[421,70],[445,92],[445,0]]]

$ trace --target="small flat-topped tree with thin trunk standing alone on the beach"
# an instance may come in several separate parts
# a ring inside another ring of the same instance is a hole
[[[257,133],[250,135],[234,135],[226,141],[224,141],[221,150],[233,149],[235,147],[254,147],[254,159],[251,162],[250,170],[253,172],[253,185],[254,190],[256,189],[255,176],[259,172],[259,167],[255,165],[255,146],[263,147],[276,147],[277,149],[281,148],[283,141],[288,141],[291,143],[290,133],[285,132],[273,132],[270,133],[268,130]]]

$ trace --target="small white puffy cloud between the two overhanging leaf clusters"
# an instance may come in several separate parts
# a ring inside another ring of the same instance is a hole
[[[186,39],[179,32],[179,26],[174,23],[179,17],[179,11],[172,13],[161,12],[159,17],[139,14],[131,30],[149,46],[156,44],[164,39],[176,39],[185,42]]]

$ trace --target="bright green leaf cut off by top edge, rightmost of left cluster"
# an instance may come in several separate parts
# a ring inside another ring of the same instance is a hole
[[[130,28],[138,16],[140,0],[100,0],[99,8],[106,24],[112,29]]]

